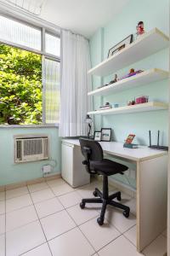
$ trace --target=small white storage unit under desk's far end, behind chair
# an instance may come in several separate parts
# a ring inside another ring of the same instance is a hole
[[[62,141],[62,162],[61,162],[61,176],[73,188],[90,183],[90,175],[82,165],[82,152],[80,147],[71,143]]]

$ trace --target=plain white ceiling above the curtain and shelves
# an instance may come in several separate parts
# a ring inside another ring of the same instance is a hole
[[[39,17],[90,38],[121,12],[129,0],[46,0]]]

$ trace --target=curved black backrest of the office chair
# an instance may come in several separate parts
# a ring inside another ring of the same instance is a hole
[[[103,149],[98,142],[90,140],[87,138],[80,138],[80,145],[82,149],[82,154],[87,159],[87,148],[90,149],[89,160],[103,160]],[[85,150],[86,149],[86,150]]]

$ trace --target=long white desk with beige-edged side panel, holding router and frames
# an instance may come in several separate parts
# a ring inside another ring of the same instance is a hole
[[[63,143],[77,146],[80,152],[77,158],[80,157],[82,161],[78,140],[68,139]],[[167,226],[167,151],[144,146],[123,148],[123,143],[115,142],[101,142],[100,145],[105,154],[133,161],[137,166],[137,249],[141,252]],[[86,172],[85,169],[83,172]]]

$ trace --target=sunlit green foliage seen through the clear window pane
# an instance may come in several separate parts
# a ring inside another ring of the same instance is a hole
[[[41,123],[41,55],[0,44],[0,125]]]

